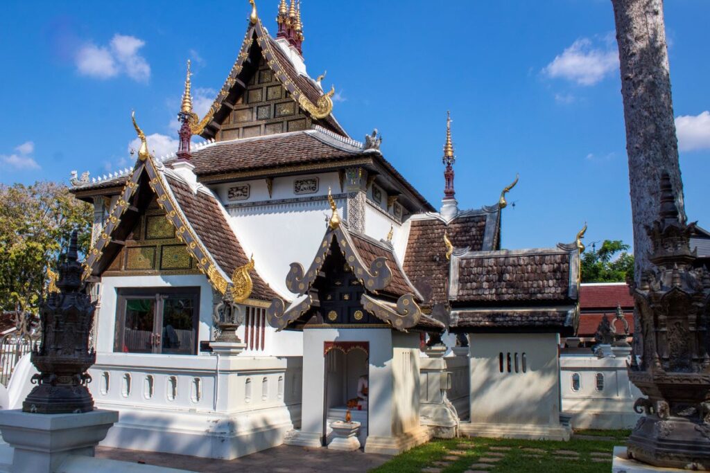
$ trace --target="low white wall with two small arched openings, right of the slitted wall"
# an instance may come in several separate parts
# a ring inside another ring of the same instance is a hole
[[[645,396],[630,382],[626,361],[624,353],[603,358],[591,350],[584,355],[562,353],[562,411],[572,416],[574,428],[633,428],[641,416],[633,411],[633,403]]]

